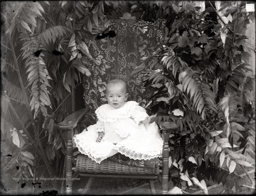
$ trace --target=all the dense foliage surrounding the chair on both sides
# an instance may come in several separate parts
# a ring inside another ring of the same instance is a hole
[[[169,159],[179,171],[177,185],[185,189],[192,180],[205,190],[200,173],[215,173],[212,179],[224,184],[238,165],[255,167],[255,76],[245,36],[252,14],[242,1],[203,5],[201,11],[193,1],[4,2],[1,138],[11,152],[5,170],[28,177],[43,164],[48,175],[63,174],[65,143],[55,124],[69,112],[73,87],[90,77],[87,62],[95,60],[84,32],[100,33],[99,21],[123,14],[166,21],[163,45],[134,72],[145,75],[156,121],[179,126]]]

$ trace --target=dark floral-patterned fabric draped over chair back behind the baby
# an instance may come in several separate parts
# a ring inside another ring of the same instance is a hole
[[[142,75],[131,73],[163,43],[164,21],[150,23],[118,19],[110,21],[108,29],[116,33],[114,38],[97,40],[90,33],[85,36],[85,43],[94,59],[88,66],[92,75],[85,76],[83,80],[85,105],[95,110],[107,103],[105,89],[112,79],[127,82],[128,100],[139,103],[150,100],[142,87]]]

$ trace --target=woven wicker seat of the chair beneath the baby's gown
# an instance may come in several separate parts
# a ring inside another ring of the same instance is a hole
[[[112,173],[112,174],[127,174],[127,175],[159,175],[159,167],[142,168],[121,165],[112,160],[102,160],[100,164],[95,163],[87,156],[78,155],[76,160],[75,172],[82,173]]]

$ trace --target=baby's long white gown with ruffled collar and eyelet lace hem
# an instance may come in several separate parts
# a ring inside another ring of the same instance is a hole
[[[161,157],[163,140],[158,126],[139,124],[148,114],[137,102],[125,102],[118,109],[104,104],[95,113],[97,123],[73,137],[80,153],[97,163],[118,152],[139,160]],[[96,142],[98,131],[105,133],[100,142]]]

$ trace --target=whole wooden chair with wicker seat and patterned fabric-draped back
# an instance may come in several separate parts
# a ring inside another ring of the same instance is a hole
[[[97,27],[97,31],[115,31],[117,36],[114,38],[107,38],[105,40],[98,40],[97,36],[92,33],[80,32],[84,38],[85,43],[92,54],[92,58],[102,64],[96,65],[95,62],[87,66],[90,69],[90,77],[85,77],[84,82],[84,100],[85,106],[95,109],[102,100],[102,89],[105,88],[107,80],[118,78],[126,80],[129,86],[128,93],[129,99],[142,102],[144,99],[151,99],[150,95],[142,89],[142,75],[139,73],[132,75],[134,67],[142,65],[144,59],[148,55],[154,53],[159,45],[164,40],[164,21],[158,20],[155,23],[146,21],[134,21],[118,19],[111,21],[109,26],[106,27],[105,23]],[[97,33],[97,32],[96,32]],[[89,63],[89,61],[88,61]],[[117,66],[118,65],[118,66]],[[91,107],[93,106],[93,107]],[[90,177],[85,189],[85,193],[95,177],[113,177],[113,178],[144,178],[149,179],[149,185],[153,193],[154,189],[153,180],[162,175],[162,193],[166,194],[168,191],[168,175],[169,175],[169,131],[177,129],[176,124],[163,123],[163,164],[161,169],[157,168],[139,168],[127,165],[114,163],[111,160],[104,160],[100,165],[93,162],[87,156],[79,155],[76,158],[76,164],[73,168],[73,129],[77,126],[78,121],[82,116],[89,112],[88,108],[75,111],[75,113],[67,116],[63,122],[58,124],[59,129],[64,130],[67,134],[67,149],[66,149],[66,192],[72,192],[73,170],[75,175],[85,175]],[[73,170],[72,170],[73,168]]]

